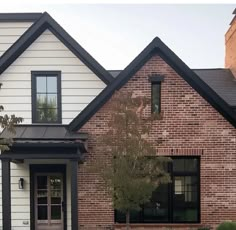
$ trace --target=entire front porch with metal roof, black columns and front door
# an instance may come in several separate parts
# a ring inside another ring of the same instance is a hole
[[[3,229],[78,230],[78,167],[87,135],[22,125],[0,138],[13,138],[0,155]]]

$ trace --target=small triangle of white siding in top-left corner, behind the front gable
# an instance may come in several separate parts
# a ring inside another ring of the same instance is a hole
[[[0,22],[0,56],[32,25],[31,22]]]

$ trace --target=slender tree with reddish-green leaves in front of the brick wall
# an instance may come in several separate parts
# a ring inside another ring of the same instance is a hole
[[[156,149],[148,140],[153,117],[145,116],[148,100],[117,93],[110,104],[109,131],[102,136],[104,152],[109,153],[109,164],[97,160],[99,172],[112,197],[116,210],[126,215],[126,229],[130,225],[130,212],[140,210],[153,191],[170,182],[166,172],[167,157],[156,156]]]

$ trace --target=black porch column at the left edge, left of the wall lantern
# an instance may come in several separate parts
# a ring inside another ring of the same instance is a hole
[[[2,159],[2,226],[11,230],[11,168],[10,159]]]

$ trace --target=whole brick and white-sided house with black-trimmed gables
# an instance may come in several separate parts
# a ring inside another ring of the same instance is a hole
[[[234,18],[224,69],[192,70],[155,38],[124,70],[106,71],[47,13],[0,14],[0,102],[24,118],[0,155],[2,229],[124,228],[124,216],[97,186],[102,181],[88,171],[106,156],[99,136],[116,91],[151,99],[146,113],[162,119],[149,138],[165,139],[157,155],[173,159],[173,183],[132,213],[133,229],[236,220],[235,30]]]

